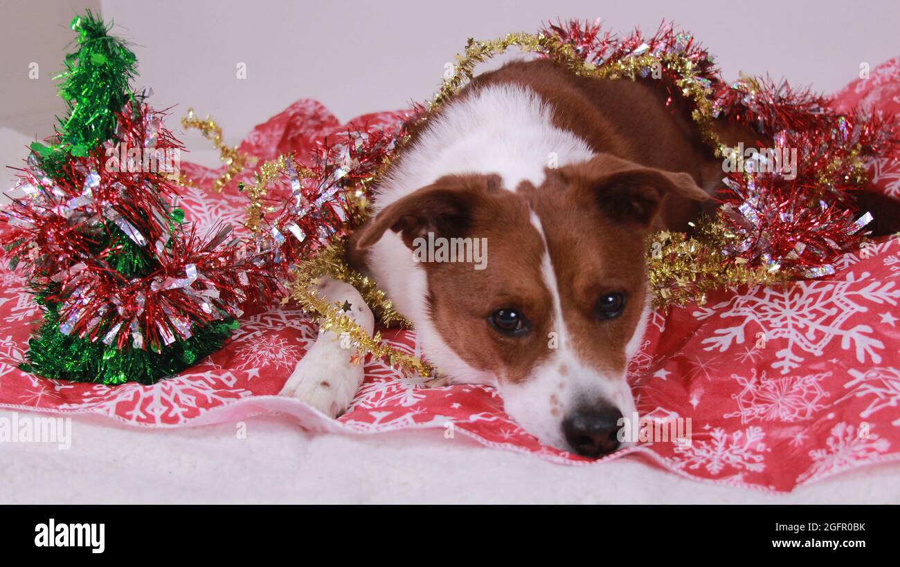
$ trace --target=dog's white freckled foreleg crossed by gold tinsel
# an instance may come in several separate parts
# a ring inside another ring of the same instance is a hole
[[[323,279],[320,295],[329,301],[349,306],[347,315],[370,335],[374,331],[374,315],[356,288],[336,279]],[[316,342],[297,363],[293,374],[282,388],[288,395],[309,403],[331,417],[347,411],[347,406],[363,383],[364,368],[356,363],[356,347],[332,331],[320,331]]]

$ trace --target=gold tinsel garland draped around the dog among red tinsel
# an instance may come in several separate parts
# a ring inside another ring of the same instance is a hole
[[[506,52],[512,47],[518,47],[523,52],[539,53],[568,66],[577,75],[593,76],[598,78],[618,79],[635,78],[645,69],[653,66],[662,66],[678,75],[675,80],[680,92],[693,102],[695,108],[692,118],[698,126],[698,131],[704,140],[713,148],[716,156],[722,157],[728,151],[716,135],[713,127],[716,119],[716,109],[712,102],[712,90],[709,84],[698,76],[696,64],[689,58],[680,54],[665,52],[646,52],[627,58],[610,61],[603,66],[596,66],[580,58],[572,45],[562,39],[544,33],[510,33],[503,38],[492,41],[477,41],[470,39],[466,44],[464,55],[456,57],[454,74],[446,77],[435,97],[428,106],[428,113],[420,121],[428,120],[428,116],[437,111],[444,102],[458,93],[469,80],[472,79],[475,67],[494,56]],[[193,115],[190,116],[193,119]],[[237,148],[228,148],[221,145],[220,128],[210,119],[190,122],[193,128],[200,128],[204,135],[213,139],[213,142],[222,152],[222,159],[232,165],[229,173],[217,182],[217,188],[230,181],[233,175],[239,172],[244,161],[241,159]],[[185,128],[188,124],[185,123]],[[212,136],[208,135],[212,133]],[[402,140],[397,143],[398,152],[402,149]],[[855,156],[855,155],[854,155]],[[255,177],[255,183],[247,190],[250,199],[248,209],[247,226],[257,229],[259,222],[265,215],[263,199],[266,196],[267,186],[275,181],[284,172],[286,160],[293,156],[281,155],[277,159],[266,162]],[[229,162],[230,160],[230,162]],[[861,160],[854,163],[854,173],[860,173],[864,177]],[[239,164],[239,165],[238,165]],[[836,172],[842,164],[831,164],[826,172]],[[309,177],[311,171],[301,171],[298,175]],[[749,173],[748,173],[749,174]],[[374,175],[369,182],[374,182]],[[226,180],[222,182],[223,180]],[[220,183],[221,182],[221,183]],[[357,217],[365,217],[365,199],[361,199]],[[739,288],[748,285],[776,285],[788,281],[788,274],[778,270],[766,270],[765,267],[752,269],[745,261],[737,259],[729,261],[725,250],[736,237],[729,232],[725,225],[718,219],[705,218],[698,221],[698,236],[689,237],[681,233],[669,231],[658,232],[648,240],[647,269],[650,288],[653,290],[653,306],[667,307],[671,305],[683,306],[691,301],[702,305],[707,300],[707,293],[714,289]],[[366,303],[378,314],[382,323],[400,322],[409,327],[410,323],[402,318],[392,306],[391,301],[374,283],[355,270],[347,266],[345,260],[345,244],[338,240],[328,247],[320,250],[315,257],[302,262],[294,270],[294,280],[290,298],[317,315],[321,328],[338,334],[346,333],[346,336],[361,352],[368,352],[375,357],[386,359],[393,366],[399,366],[408,371],[413,371],[421,376],[433,373],[428,363],[410,356],[400,350],[383,344],[381,333],[376,332],[370,337],[365,329],[360,327],[353,319],[344,315],[340,306],[330,303],[324,297],[320,297],[317,291],[317,282],[320,278],[330,276],[354,285],[365,298]]]

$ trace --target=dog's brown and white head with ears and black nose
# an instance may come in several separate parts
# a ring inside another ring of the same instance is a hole
[[[380,210],[356,246],[399,235],[427,274],[428,324],[446,349],[496,378],[527,431],[599,456],[635,410],[626,364],[646,322],[645,239],[667,194],[707,199],[687,173],[611,155],[548,168],[540,186],[449,175]]]

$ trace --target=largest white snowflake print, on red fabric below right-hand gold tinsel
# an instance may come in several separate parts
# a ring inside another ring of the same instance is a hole
[[[900,288],[895,282],[872,279],[869,272],[862,272],[857,279],[853,272],[842,281],[798,281],[785,288],[752,288],[746,295],[735,296],[707,311],[696,311],[698,319],[719,313],[722,319],[737,318],[732,327],[716,329],[715,337],[702,342],[705,350],[725,352],[734,344],[743,344],[747,335],[755,336],[758,330],[767,339],[767,348],[776,344],[784,347],[775,352],[772,368],[788,374],[806,360],[800,352],[821,356],[835,338],[841,339],[841,347],[855,348],[860,362],[881,362],[878,350],[885,344],[871,336],[872,327],[865,323],[850,326],[853,315],[866,313],[866,304],[896,306],[900,300]],[[721,310],[721,312],[720,312]]]

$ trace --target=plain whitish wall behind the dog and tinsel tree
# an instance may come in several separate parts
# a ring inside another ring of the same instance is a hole
[[[654,31],[663,18],[674,20],[716,55],[726,78],[768,72],[824,92],[855,78],[860,63],[874,67],[900,54],[897,0],[0,0],[0,127],[49,134],[61,109],[49,71],[73,37],[71,15],[85,5],[134,43],[137,84],[153,87],[158,108],[177,104],[175,117],[189,106],[209,112],[232,143],[302,97],[342,120],[423,100],[467,37],[536,31],[557,16],[601,16],[616,31]],[[48,72],[30,81],[35,60]],[[246,80],[236,78],[239,62]],[[193,134],[185,139],[206,148]]]

